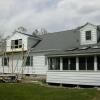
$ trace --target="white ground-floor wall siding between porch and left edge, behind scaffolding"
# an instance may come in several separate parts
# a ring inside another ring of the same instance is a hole
[[[47,65],[45,65],[45,56],[34,55],[33,53],[31,53],[30,56],[33,56],[33,66],[24,66],[23,74],[46,75]],[[3,68],[4,68],[4,73],[12,73],[12,72],[22,73],[21,53],[13,55],[13,60],[12,60],[12,55],[9,56],[9,66],[2,66],[2,57],[0,57],[0,73],[3,73]]]

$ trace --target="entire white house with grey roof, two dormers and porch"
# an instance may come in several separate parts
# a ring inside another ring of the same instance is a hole
[[[99,25],[86,23],[39,36],[16,31],[5,45],[0,73],[46,76],[47,83],[100,86]]]

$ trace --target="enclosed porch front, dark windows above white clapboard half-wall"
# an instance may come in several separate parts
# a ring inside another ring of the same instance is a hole
[[[100,55],[48,57],[47,82],[100,86]]]

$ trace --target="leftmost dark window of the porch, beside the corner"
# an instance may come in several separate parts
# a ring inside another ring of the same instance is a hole
[[[49,70],[60,70],[60,58],[49,58]]]

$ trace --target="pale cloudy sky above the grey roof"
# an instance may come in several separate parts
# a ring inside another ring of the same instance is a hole
[[[0,34],[20,26],[29,33],[73,29],[86,22],[100,24],[100,0],[0,0]]]

